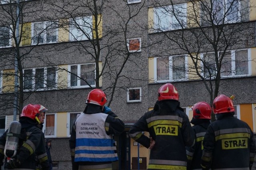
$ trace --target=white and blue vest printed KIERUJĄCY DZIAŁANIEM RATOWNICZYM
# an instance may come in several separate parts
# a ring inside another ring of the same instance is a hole
[[[78,114],[76,125],[75,162],[108,162],[118,160],[112,135],[106,134],[108,114]]]

